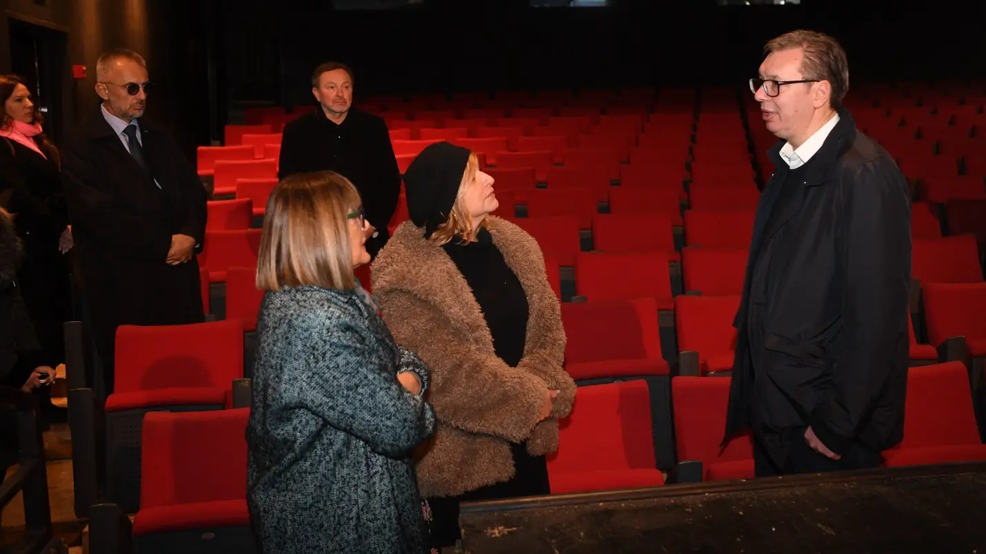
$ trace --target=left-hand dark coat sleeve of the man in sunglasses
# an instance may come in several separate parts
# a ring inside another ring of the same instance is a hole
[[[84,154],[83,149],[72,146],[62,151],[69,223],[120,258],[164,263],[172,247],[172,233],[157,222],[121,209],[115,187],[105,177],[106,170],[86,160]]]

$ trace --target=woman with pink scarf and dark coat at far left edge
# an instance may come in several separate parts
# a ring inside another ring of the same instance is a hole
[[[13,215],[23,245],[18,284],[40,343],[41,365],[54,368],[65,361],[62,323],[72,317],[67,259],[72,230],[58,150],[45,138],[22,78],[0,75],[0,100],[0,207]],[[50,399],[43,398],[41,408],[49,421],[64,421],[64,409]]]

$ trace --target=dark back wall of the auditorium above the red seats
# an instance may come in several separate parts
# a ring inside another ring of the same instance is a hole
[[[859,81],[981,77],[986,61],[975,28],[981,18],[966,17],[967,11],[936,15],[924,7],[930,2],[908,3],[907,12],[902,4],[872,0],[729,7],[624,0],[583,9],[504,9],[486,2],[368,12],[301,0],[223,2],[231,17],[222,59],[234,101],[310,103],[309,74],[325,59],[355,67],[357,94],[741,86],[756,73],[763,43],[798,28],[839,37]],[[973,11],[983,11],[975,4]]]

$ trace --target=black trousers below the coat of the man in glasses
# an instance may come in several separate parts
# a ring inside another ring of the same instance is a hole
[[[787,459],[778,466],[768,453],[767,442],[762,437],[753,437],[753,466],[757,477],[776,477],[797,473],[826,473],[830,471],[851,471],[880,467],[882,456],[879,450],[872,450],[859,443],[853,443],[839,459],[831,459],[811,450],[805,442],[807,427],[782,433],[781,448],[787,450]],[[776,448],[776,447],[774,447]]]

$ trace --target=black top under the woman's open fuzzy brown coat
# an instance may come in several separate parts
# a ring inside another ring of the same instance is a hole
[[[449,242],[445,251],[479,303],[497,357],[517,367],[527,343],[528,297],[489,232],[480,229],[476,239],[465,244]]]

